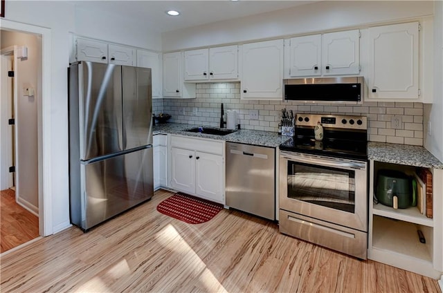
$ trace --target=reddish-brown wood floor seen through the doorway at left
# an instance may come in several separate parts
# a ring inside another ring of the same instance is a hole
[[[0,252],[39,236],[39,218],[15,202],[15,191],[0,191]]]

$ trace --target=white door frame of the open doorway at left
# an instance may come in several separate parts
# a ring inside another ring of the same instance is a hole
[[[2,30],[31,33],[42,37],[42,107],[37,115],[39,160],[39,234],[53,234],[51,198],[51,29],[0,19]]]

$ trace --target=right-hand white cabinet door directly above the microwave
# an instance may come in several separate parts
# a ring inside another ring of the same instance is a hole
[[[323,75],[358,75],[360,72],[360,32],[347,30],[322,36]]]

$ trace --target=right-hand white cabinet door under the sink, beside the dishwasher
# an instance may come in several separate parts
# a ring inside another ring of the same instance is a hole
[[[197,196],[224,204],[222,156],[196,151],[195,162]]]

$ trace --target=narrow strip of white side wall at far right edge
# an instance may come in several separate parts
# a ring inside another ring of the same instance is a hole
[[[431,122],[431,135],[427,134],[425,147],[443,161],[443,1],[435,1],[433,55],[434,100],[431,106],[425,108]],[[428,129],[427,122],[425,126]]]

